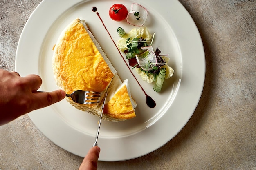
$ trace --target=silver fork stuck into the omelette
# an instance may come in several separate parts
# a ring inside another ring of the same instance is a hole
[[[35,91],[34,93],[43,93],[44,91]],[[99,103],[100,93],[95,91],[83,91],[76,90],[71,94],[66,94],[67,97],[70,97],[74,102],[79,104],[94,104]]]

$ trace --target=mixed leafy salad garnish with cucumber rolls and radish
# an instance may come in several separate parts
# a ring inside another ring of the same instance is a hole
[[[153,50],[151,44],[154,37],[155,33],[152,36],[147,27],[135,28],[117,41],[117,47],[125,54],[132,69],[135,69],[144,81],[157,83],[154,90],[159,92],[163,80],[157,80],[159,79],[157,76],[164,77],[163,79],[170,78],[173,76],[174,70],[168,66],[169,58],[166,55],[161,55],[158,47],[155,51]],[[160,75],[161,70],[162,74]]]

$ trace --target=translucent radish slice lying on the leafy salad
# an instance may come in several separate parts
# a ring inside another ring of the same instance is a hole
[[[139,66],[145,70],[152,70],[157,63],[157,57],[153,51],[152,46],[141,47],[141,49],[146,50],[144,53],[135,55]]]

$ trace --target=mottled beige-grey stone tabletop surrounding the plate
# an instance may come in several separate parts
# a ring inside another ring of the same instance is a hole
[[[14,71],[20,33],[41,0],[0,0],[0,68]],[[256,170],[256,0],[180,0],[202,37],[206,77],[186,126],[148,155],[99,170]],[[75,170],[82,157],[28,115],[0,126],[0,170]]]

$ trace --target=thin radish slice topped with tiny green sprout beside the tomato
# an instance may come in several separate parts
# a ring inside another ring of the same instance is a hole
[[[131,10],[127,15],[126,21],[134,26],[143,26],[148,17],[146,8],[139,4],[132,4]]]

